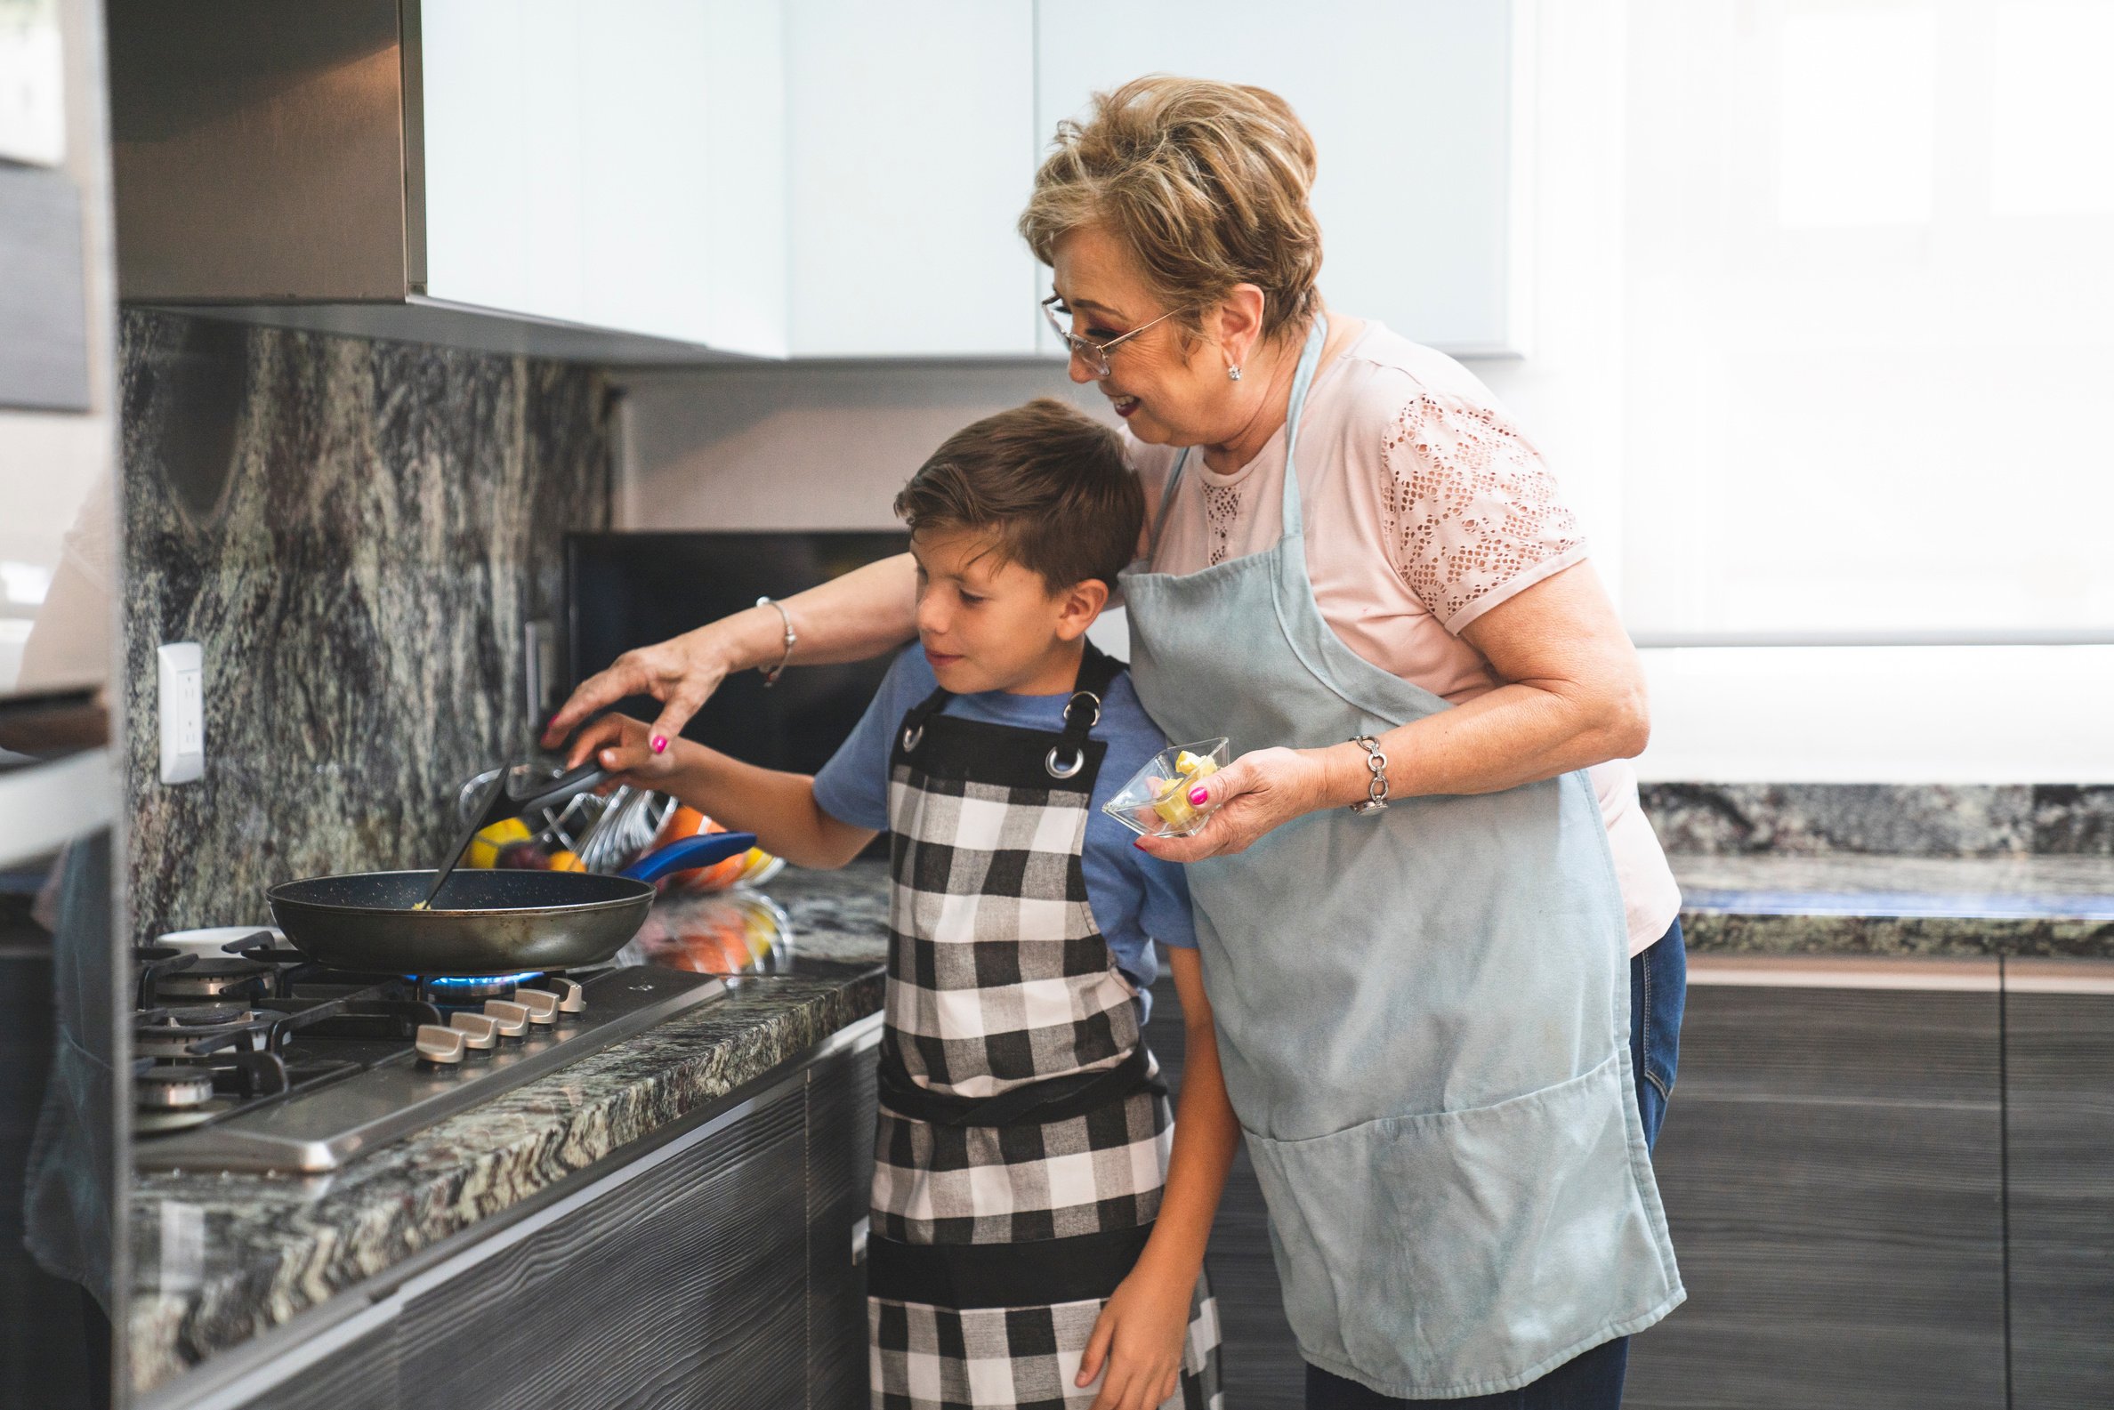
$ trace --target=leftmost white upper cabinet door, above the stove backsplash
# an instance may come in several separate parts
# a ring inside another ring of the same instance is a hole
[[[755,0],[423,0],[425,294],[784,353],[782,27]]]

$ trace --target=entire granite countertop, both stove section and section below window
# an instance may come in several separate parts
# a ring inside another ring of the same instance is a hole
[[[2114,958],[2114,856],[1674,854],[1700,953]],[[774,972],[649,1034],[317,1177],[142,1173],[135,1391],[292,1319],[877,1013],[886,869],[789,871]],[[712,901],[666,901],[619,958],[653,958]],[[165,1235],[169,1245],[165,1247]]]

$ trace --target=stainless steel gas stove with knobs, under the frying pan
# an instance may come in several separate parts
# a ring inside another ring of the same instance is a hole
[[[133,1163],[319,1173],[725,994],[647,966],[357,975],[271,930],[137,951]]]

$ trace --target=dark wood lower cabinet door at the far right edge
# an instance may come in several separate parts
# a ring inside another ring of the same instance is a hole
[[[2004,964],[2015,1406],[2114,1406],[2114,962]]]

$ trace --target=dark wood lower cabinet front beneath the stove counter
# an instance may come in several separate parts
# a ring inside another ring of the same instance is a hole
[[[226,1404],[858,1410],[877,1036],[873,1023],[839,1034],[729,1110],[245,1372],[260,1389]]]

